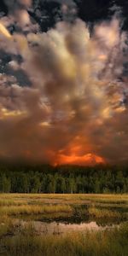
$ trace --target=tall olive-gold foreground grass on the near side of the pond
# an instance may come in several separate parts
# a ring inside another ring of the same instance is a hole
[[[37,236],[32,224],[16,236],[1,236],[3,256],[127,256],[128,224],[113,230]]]

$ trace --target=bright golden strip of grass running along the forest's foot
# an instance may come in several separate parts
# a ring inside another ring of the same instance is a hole
[[[79,202],[101,202],[101,203],[119,203],[128,204],[128,195],[100,195],[100,194],[0,194],[0,202],[2,201],[20,202],[20,201],[59,201],[61,203]]]

